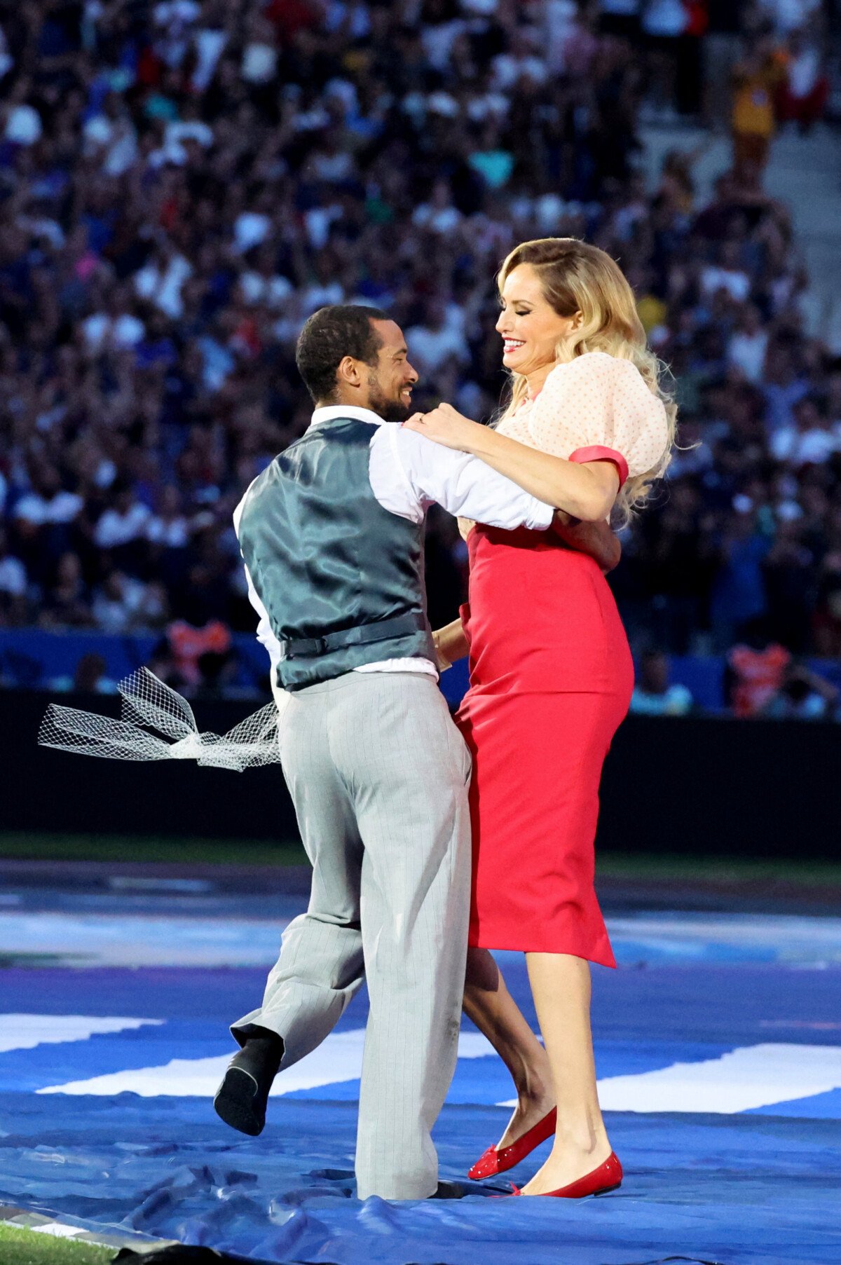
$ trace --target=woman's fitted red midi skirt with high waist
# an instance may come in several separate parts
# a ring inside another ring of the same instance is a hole
[[[468,546],[469,942],[615,966],[593,877],[602,764],[634,687],[616,602],[545,533],[477,526]]]

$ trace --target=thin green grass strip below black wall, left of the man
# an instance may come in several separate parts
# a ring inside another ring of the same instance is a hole
[[[173,839],[142,835],[0,832],[0,860],[172,861],[226,865],[305,865],[297,840]]]

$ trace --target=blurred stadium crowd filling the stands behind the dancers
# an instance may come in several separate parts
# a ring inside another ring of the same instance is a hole
[[[386,307],[419,406],[489,417],[496,267],[573,234],[625,267],[680,404],[613,577],[634,645],[841,655],[841,348],[807,330],[761,178],[775,126],[823,109],[820,24],[817,0],[5,10],[0,624],[175,627],[193,669],[221,653],[254,624],[233,507],[309,421],[306,316]],[[715,125],[722,73],[732,168],[699,199],[674,152],[646,188],[640,110]],[[434,515],[434,622],[464,581]]]

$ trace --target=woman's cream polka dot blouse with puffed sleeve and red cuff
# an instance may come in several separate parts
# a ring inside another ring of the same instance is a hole
[[[606,352],[556,364],[498,430],[550,457],[615,462],[622,483],[655,469],[669,441],[663,401],[630,361]]]

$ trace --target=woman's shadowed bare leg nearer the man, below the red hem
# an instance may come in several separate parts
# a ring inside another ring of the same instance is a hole
[[[510,1146],[555,1106],[549,1059],[526,1023],[487,949],[468,949],[464,1013],[487,1036],[517,1090],[517,1106],[498,1146]]]

